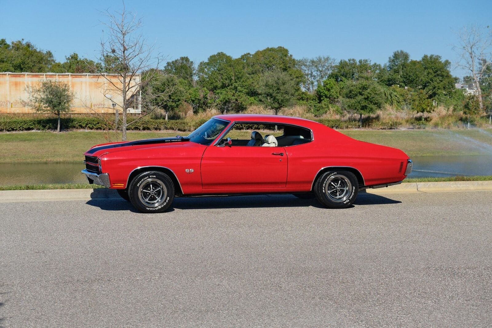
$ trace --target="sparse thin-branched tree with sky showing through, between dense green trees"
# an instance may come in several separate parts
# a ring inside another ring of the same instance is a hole
[[[313,93],[318,85],[328,78],[335,65],[335,60],[330,56],[318,56],[315,58],[303,58],[297,60],[297,67],[306,77],[302,87],[309,93]]]

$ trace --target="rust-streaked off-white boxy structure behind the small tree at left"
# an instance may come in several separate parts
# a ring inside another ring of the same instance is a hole
[[[118,75],[107,74],[111,83],[121,85]],[[24,107],[21,100],[26,100],[26,87],[39,84],[45,79],[64,82],[74,93],[72,113],[114,113],[112,103],[122,103],[121,94],[113,94],[111,83],[99,74],[72,73],[9,73],[0,72],[0,113],[32,113]],[[140,79],[140,77],[137,77]],[[135,99],[129,113],[140,113],[140,99]]]

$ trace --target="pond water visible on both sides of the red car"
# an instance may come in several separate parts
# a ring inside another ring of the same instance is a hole
[[[492,155],[413,157],[410,178],[492,175]],[[0,185],[86,183],[82,163],[0,164]]]

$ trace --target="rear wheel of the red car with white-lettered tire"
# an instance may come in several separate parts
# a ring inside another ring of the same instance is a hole
[[[328,209],[345,209],[357,198],[359,183],[352,172],[323,173],[314,184],[316,199]]]

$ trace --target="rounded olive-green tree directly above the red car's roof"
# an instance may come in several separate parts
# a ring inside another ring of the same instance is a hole
[[[275,115],[278,115],[280,109],[292,104],[298,90],[299,85],[289,73],[279,69],[263,73],[258,85],[261,103],[273,110]]]

